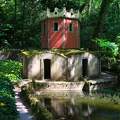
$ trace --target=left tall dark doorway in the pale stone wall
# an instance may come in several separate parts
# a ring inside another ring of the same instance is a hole
[[[44,79],[51,79],[51,60],[44,59]]]

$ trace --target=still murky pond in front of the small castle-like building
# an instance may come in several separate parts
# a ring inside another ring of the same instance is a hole
[[[120,105],[79,92],[41,92],[42,106],[55,120],[120,120]]]

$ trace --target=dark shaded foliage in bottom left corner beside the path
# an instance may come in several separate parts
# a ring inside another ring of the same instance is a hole
[[[0,74],[0,120],[17,120],[13,86],[8,77]]]

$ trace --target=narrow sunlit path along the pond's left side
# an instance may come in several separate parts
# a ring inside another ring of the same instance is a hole
[[[19,112],[20,120],[33,120],[33,116],[29,113],[28,109],[23,104],[19,96],[20,88],[15,88],[14,91],[15,91],[16,107],[17,107],[17,111]]]

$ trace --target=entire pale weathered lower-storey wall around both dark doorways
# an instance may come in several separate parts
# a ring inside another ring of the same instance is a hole
[[[100,73],[99,59],[90,53],[71,55],[44,52],[24,58],[24,74],[28,78],[44,80],[44,60],[51,61],[51,80],[53,81],[82,81],[82,60],[88,59],[88,77],[96,77]]]

